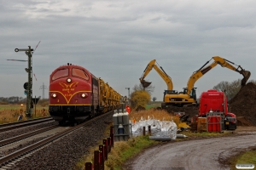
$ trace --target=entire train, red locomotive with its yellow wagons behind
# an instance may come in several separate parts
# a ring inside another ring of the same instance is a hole
[[[119,109],[124,97],[83,66],[61,65],[49,76],[49,114],[60,125]]]

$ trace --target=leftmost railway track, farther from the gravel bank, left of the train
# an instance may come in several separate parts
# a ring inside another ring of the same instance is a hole
[[[34,124],[42,123],[42,122],[50,122],[53,121],[53,118],[51,116],[44,117],[44,118],[38,118],[38,119],[32,119],[28,121],[22,121],[22,122],[12,122],[12,123],[4,123],[0,125],[0,133],[13,130],[15,128],[19,127],[27,127]]]

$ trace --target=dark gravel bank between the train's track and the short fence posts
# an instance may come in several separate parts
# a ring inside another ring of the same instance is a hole
[[[89,153],[90,147],[102,139],[108,123],[112,122],[112,116],[104,116],[101,120],[91,122],[90,125],[52,142],[32,156],[17,162],[15,169],[73,169],[77,161]]]

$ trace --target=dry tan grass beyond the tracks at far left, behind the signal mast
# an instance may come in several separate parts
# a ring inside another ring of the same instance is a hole
[[[46,111],[43,111],[42,105],[36,105],[33,108],[32,118],[38,118],[42,116],[49,116],[48,107],[45,107]],[[0,105],[0,124],[17,122],[20,113],[23,115],[22,120],[26,120],[26,105]]]

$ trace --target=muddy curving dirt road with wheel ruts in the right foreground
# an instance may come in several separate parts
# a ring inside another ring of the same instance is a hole
[[[171,142],[143,151],[125,166],[134,170],[230,169],[220,161],[250,146],[256,146],[255,132],[232,137]]]

